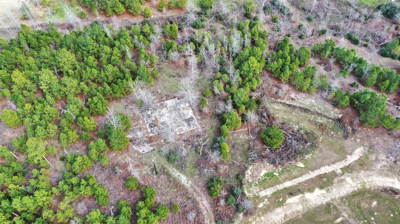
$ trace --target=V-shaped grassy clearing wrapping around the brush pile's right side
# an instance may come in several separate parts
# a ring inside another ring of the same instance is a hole
[[[266,189],[346,158],[348,154],[346,148],[349,140],[342,137],[340,128],[332,120],[290,108],[283,104],[273,102],[266,102],[266,104],[272,109],[277,120],[285,122],[298,130],[300,134],[306,136],[308,141],[314,143],[315,148],[299,160],[305,165],[304,168],[292,165],[284,169],[279,169],[279,177],[273,175],[274,172],[271,172],[272,174],[266,173],[258,181],[246,183],[247,189],[251,189],[252,187]],[[322,124],[324,125],[322,126]],[[360,143],[352,143],[351,148],[355,149],[360,145]]]

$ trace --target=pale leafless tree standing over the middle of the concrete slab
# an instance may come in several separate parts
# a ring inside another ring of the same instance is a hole
[[[182,126],[182,119],[176,114],[165,114],[158,123],[160,134],[168,141],[174,141],[179,128]]]

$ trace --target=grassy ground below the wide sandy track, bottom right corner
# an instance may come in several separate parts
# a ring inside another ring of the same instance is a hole
[[[375,202],[376,204],[373,205]],[[301,217],[292,218],[285,223],[334,223],[336,219],[343,217],[342,213],[344,211],[348,217],[357,223],[400,223],[400,214],[396,214],[400,211],[398,196],[379,190],[356,191],[344,198],[344,200],[343,198],[339,198],[330,204],[310,209]],[[346,220],[345,218],[343,221],[342,223],[350,222],[350,220]]]

